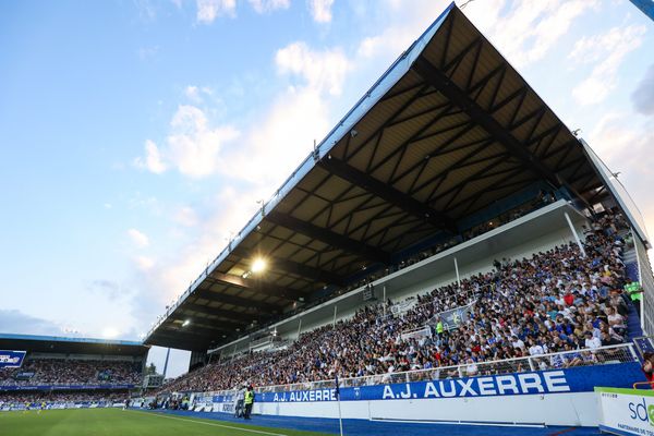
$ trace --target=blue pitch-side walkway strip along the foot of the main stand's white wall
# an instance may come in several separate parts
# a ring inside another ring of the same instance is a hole
[[[299,429],[305,432],[319,432],[338,434],[338,420],[324,417],[296,417],[296,416],[264,416],[253,415],[251,421],[235,419],[227,413],[216,412],[189,412],[157,410],[150,413],[166,413],[186,416],[189,419],[199,417],[217,420],[222,422],[232,422],[240,424],[258,425],[262,427],[277,427]],[[433,436],[434,434],[444,434],[448,436],[589,436],[600,435],[596,427],[513,427],[513,426],[491,426],[491,425],[469,425],[469,424],[416,424],[405,422],[382,422],[367,420],[343,420],[343,434],[347,436]]]

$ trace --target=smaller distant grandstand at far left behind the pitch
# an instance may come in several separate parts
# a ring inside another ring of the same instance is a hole
[[[102,407],[141,391],[149,347],[102,339],[0,335],[0,409]]]

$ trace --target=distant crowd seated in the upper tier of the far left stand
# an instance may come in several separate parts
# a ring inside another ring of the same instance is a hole
[[[124,361],[27,359],[0,371],[0,386],[140,384],[141,364]]]

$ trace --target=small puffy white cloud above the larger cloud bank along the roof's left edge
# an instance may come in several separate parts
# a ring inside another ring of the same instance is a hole
[[[275,62],[280,73],[300,75],[308,88],[331,95],[341,94],[350,69],[342,50],[313,51],[305,43],[293,43],[278,50]]]

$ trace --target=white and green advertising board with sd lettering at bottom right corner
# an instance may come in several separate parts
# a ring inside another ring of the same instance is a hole
[[[600,429],[616,435],[654,436],[654,391],[596,387]]]

